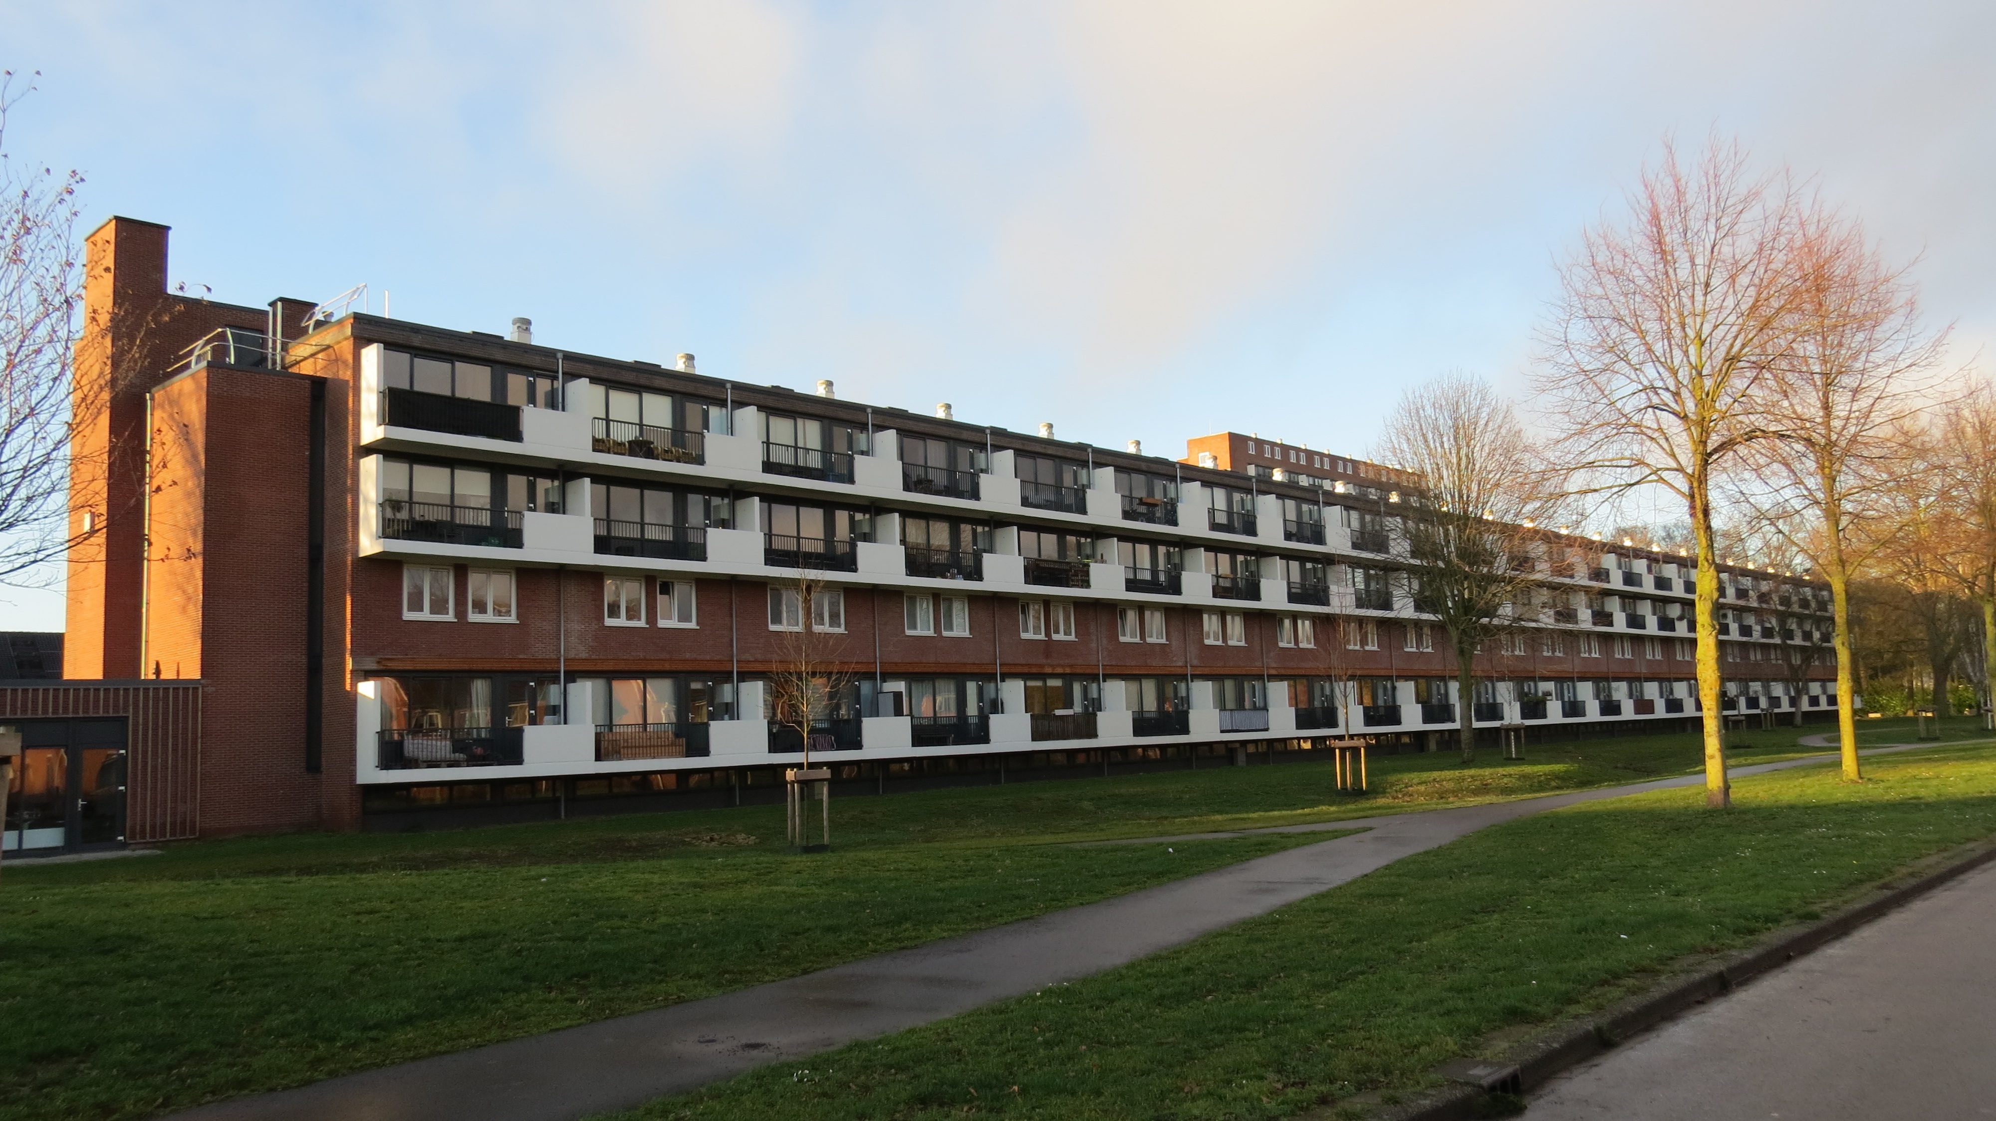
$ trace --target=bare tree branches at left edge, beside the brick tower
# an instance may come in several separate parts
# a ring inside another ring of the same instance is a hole
[[[8,112],[32,90],[0,72],[0,584],[32,580],[76,533],[96,531],[68,519],[84,180],[8,156]]]

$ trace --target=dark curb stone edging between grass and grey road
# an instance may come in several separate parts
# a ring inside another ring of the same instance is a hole
[[[1663,981],[1647,993],[1551,1029],[1495,1059],[1453,1059],[1435,1067],[1449,1085],[1413,1101],[1373,1113],[1373,1121],[1471,1121],[1519,1111],[1519,1099],[1595,1055],[1673,1019],[1685,1009],[1725,995],[1746,981],[1834,941],[1852,930],[1940,888],[1984,864],[1996,862],[1996,838],[1930,856],[1872,888],[1836,914],[1776,932],[1758,945],[1737,949],[1719,965]]]

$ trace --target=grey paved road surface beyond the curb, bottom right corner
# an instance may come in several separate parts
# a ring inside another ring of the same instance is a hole
[[[1575,1067],[1539,1121],[1996,1117],[1996,864]]]

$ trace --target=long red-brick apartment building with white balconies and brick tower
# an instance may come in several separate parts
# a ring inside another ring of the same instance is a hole
[[[198,834],[756,798],[806,746],[772,720],[804,638],[812,762],[874,788],[1697,712],[1679,557],[1549,537],[1551,606],[1459,698],[1387,467],[1238,433],[1172,461],[527,321],[196,301],[166,291],[166,239],[112,219],[88,243],[80,383],[110,407],[76,469],[96,535],[64,666],[200,682],[176,778]],[[1723,584],[1729,706],[1828,704],[1796,660],[1826,592]],[[104,784],[70,774],[72,800]]]

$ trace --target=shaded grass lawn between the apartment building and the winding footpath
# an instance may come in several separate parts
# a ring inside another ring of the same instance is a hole
[[[1810,728],[1816,730],[1816,728]],[[1798,754],[1754,732],[1739,762]],[[782,810],[437,834],[285,836],[6,868],[0,1117],[144,1117],[697,999],[1190,876],[1317,836],[1050,842],[1251,828],[1681,774],[1695,736],[1210,768],[834,804],[836,850]]]

